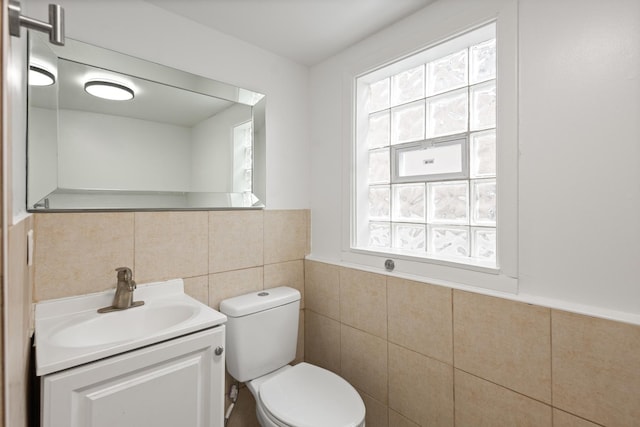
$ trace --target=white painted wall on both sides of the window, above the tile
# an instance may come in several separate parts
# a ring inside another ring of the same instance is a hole
[[[340,262],[345,76],[424,43],[440,0],[312,67],[312,256]],[[519,295],[640,323],[640,2],[519,0]]]

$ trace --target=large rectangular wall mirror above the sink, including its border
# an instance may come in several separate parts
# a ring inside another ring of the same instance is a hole
[[[264,95],[32,31],[29,67],[29,211],[265,206]]]

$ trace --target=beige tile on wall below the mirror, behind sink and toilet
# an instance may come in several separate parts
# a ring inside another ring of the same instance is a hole
[[[34,301],[115,287],[128,266],[143,284],[181,277],[194,298],[225,298],[281,285],[303,294],[307,210],[60,213],[35,215]],[[296,361],[304,359],[304,311]],[[229,389],[231,379],[227,377]],[[230,426],[257,426],[243,388]]]

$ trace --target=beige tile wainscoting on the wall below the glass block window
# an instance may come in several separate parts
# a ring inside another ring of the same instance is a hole
[[[640,425],[640,326],[309,260],[305,307],[367,427]]]

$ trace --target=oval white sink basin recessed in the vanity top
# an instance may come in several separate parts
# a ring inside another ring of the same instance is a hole
[[[63,324],[49,337],[60,347],[92,347],[128,341],[161,332],[191,319],[198,307],[186,304],[143,305]]]

